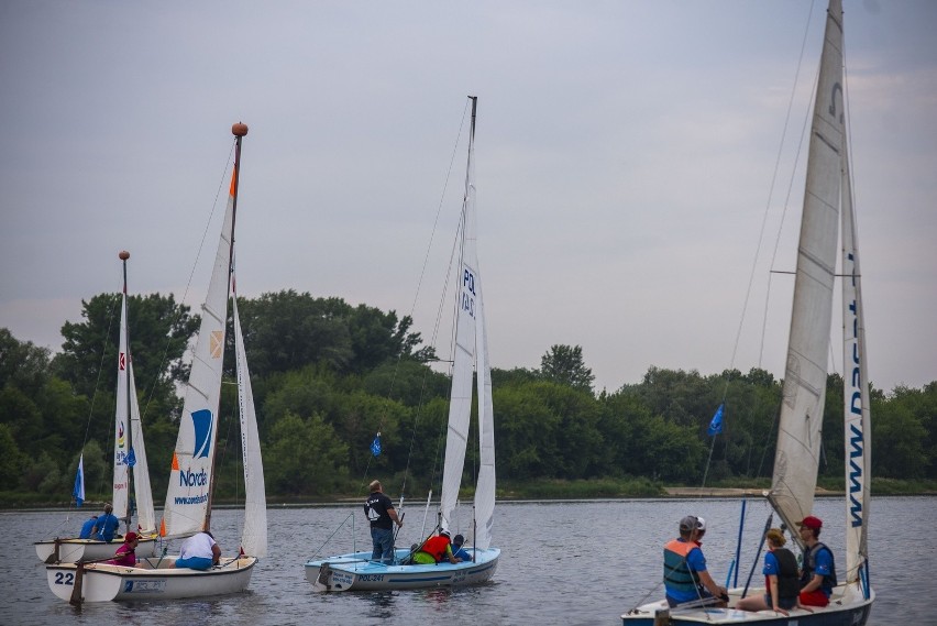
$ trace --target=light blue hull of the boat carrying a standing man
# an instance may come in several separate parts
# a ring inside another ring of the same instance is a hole
[[[472,548],[466,548],[470,553]],[[408,550],[397,550],[397,560]],[[490,580],[500,550],[475,550],[475,561],[433,565],[385,565],[371,561],[371,552],[354,552],[306,563],[306,579],[312,589],[327,591],[387,591],[479,584]]]

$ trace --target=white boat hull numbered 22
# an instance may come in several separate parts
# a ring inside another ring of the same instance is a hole
[[[247,587],[257,563],[255,557],[222,559],[221,565],[198,571],[172,568],[175,561],[175,558],[150,559],[136,568],[101,563],[86,565],[81,576],[80,600],[179,600],[238,593]],[[75,563],[47,565],[48,587],[62,600],[70,601],[77,570]]]

